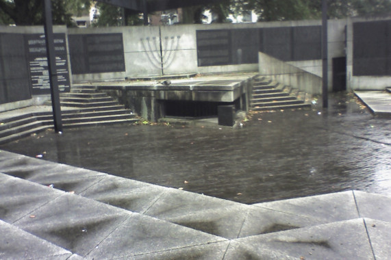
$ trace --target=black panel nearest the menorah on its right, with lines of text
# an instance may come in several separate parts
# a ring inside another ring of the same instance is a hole
[[[231,64],[231,31],[197,31],[198,66]]]

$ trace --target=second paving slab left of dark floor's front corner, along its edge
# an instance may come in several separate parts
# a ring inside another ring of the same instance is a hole
[[[80,195],[129,211],[144,213],[166,190],[166,187],[108,175]]]

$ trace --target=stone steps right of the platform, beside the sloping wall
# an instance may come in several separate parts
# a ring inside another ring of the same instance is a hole
[[[257,77],[253,83],[251,110],[277,110],[311,107],[305,92],[284,86],[266,77]]]

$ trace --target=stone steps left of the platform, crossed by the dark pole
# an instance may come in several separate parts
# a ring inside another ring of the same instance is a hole
[[[75,86],[60,94],[64,128],[133,123],[138,119],[130,110],[92,86]],[[51,105],[50,101],[45,105]],[[64,109],[66,107],[66,109]],[[53,113],[22,113],[1,119],[0,144],[11,142],[53,127]]]

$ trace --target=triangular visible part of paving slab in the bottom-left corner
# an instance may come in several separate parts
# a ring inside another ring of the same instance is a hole
[[[0,259],[68,259],[72,252],[0,220]],[[4,235],[6,234],[6,235]]]

